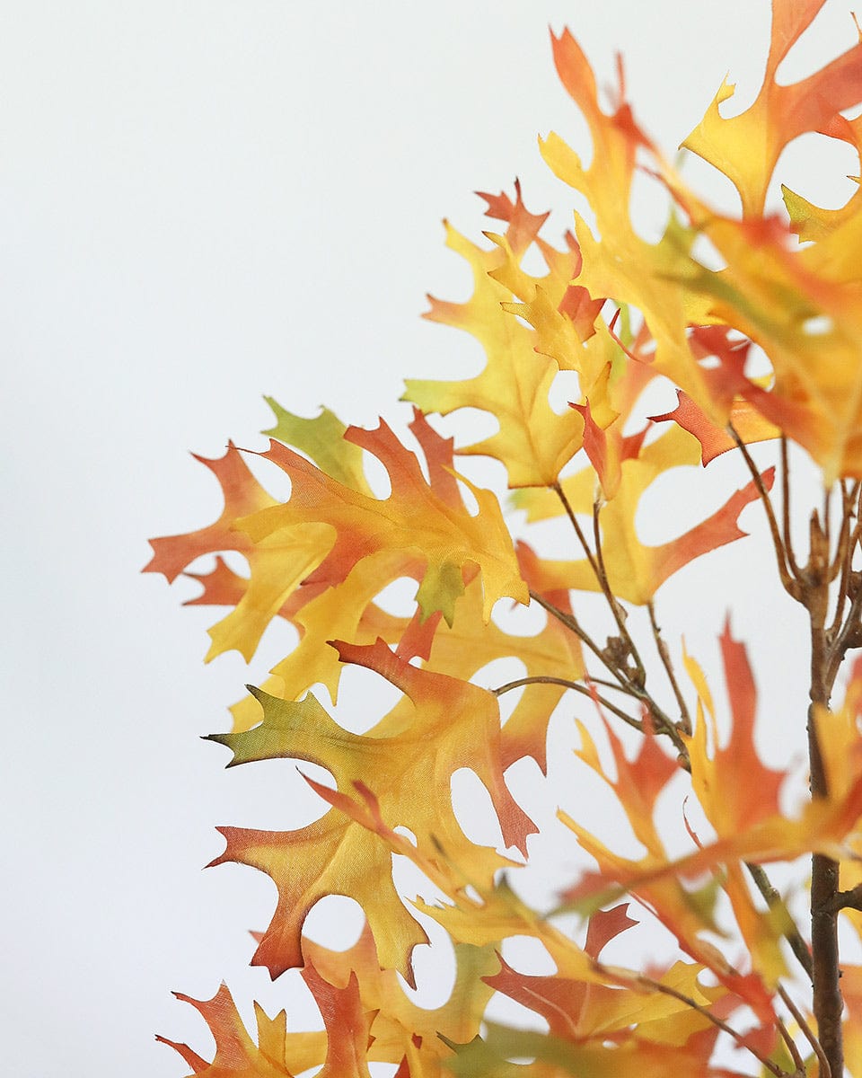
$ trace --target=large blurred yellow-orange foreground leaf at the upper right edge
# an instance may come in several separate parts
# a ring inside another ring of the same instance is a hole
[[[811,80],[826,78],[860,47]],[[862,79],[858,73],[853,79],[854,93],[862,99]],[[823,98],[816,108],[833,112],[817,129],[851,143],[859,154],[859,120],[840,116],[837,98]],[[696,199],[686,198],[695,207]],[[693,272],[689,287],[710,295],[717,318],[762,346],[773,364],[775,385],[767,390],[743,382],[741,393],[811,454],[829,484],[838,475],[862,474],[857,348],[862,326],[858,259],[862,198],[857,191],[835,211],[819,211],[790,192],[785,201],[790,227],[777,218],[738,221],[704,207],[693,209],[727,265],[719,274]],[[797,248],[791,238],[794,232],[814,241]]]

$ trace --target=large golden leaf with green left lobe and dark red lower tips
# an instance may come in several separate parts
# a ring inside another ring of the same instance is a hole
[[[381,640],[371,647],[336,647],[342,661],[367,666],[401,689],[412,701],[409,711],[400,708],[359,735],[338,727],[310,694],[292,702],[251,689],[264,708],[263,721],[210,740],[232,750],[231,765],[292,758],[328,769],[342,791],[369,780],[390,826],[409,828],[426,849],[442,845],[469,862],[477,879],[490,880],[506,861],[467,840],[451,805],[450,783],[458,769],[473,769],[490,794],[505,844],[525,852],[534,828],[503,782],[496,697],[457,678],[418,669]],[[380,960],[412,978],[409,955],[426,936],[401,903],[391,881],[390,851],[372,830],[338,808],[297,831],[220,830],[227,848],[213,865],[249,865],[278,887],[276,913],[254,964],[266,965],[274,977],[300,965],[308,911],[319,898],[338,894],[354,898],[364,910]]]

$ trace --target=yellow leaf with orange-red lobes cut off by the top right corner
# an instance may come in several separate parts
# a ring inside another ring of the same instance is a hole
[[[821,70],[781,84],[776,73],[825,0],[773,0],[769,55],[763,84],[743,112],[722,116],[719,106],[735,86],[725,80],[704,119],[682,146],[731,180],[746,217],[763,213],[766,192],[784,148],[806,132],[826,127],[843,109],[862,100],[862,43]]]

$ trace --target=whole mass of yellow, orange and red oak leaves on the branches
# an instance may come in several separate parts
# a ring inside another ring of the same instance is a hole
[[[574,234],[554,246],[542,235],[546,215],[528,212],[516,185],[514,199],[484,196],[499,222],[499,232],[486,234],[490,247],[447,226],[449,247],[472,268],[473,291],[464,303],[432,300],[428,317],[482,344],[482,373],[407,382],[416,451],[383,421],[346,428],[330,412],[304,419],[270,402],[276,426],[260,456],[289,476],[288,500],[270,497],[246,451],[232,444],[221,459],[204,461],[224,495],[218,521],[153,541],[147,568],[168,580],[198,556],[217,555],[211,571],[191,573],[203,585],[193,602],[231,608],[210,631],[208,659],[236,649],[250,660],[274,619],[298,634],[270,678],[232,709],[233,730],[211,740],[230,749],[232,765],[309,761],[335,784],[307,779],[329,805],[307,827],[222,828],[226,847],[213,862],[251,866],[275,882],[277,909],[256,937],[253,962],[273,978],[301,970],[325,1028],[288,1033],[283,1012],[269,1019],[259,1009],[255,1039],[223,986],[210,1000],[189,1000],[212,1031],[214,1060],[173,1045],[195,1074],[283,1076],[322,1066],[322,1075],[348,1078],[367,1076],[375,1061],[395,1067],[398,1078],[747,1073],[717,1062],[717,1047],[728,1042],[743,1053],[739,1065],[757,1073],[837,1076],[844,1051],[862,1075],[862,966],[845,963],[839,986],[836,943],[839,914],[850,934],[862,932],[862,664],[846,679],[843,704],[830,708],[846,653],[862,644],[854,565],[862,194],[823,210],[784,191],[787,215],[764,211],[776,163],[801,134],[840,139],[862,154],[862,120],[843,114],[862,100],[862,41],[800,83],[776,82],[822,2],[774,0],[753,105],[724,119],[719,106],[733,87],[723,85],[683,143],[734,183],[736,216],[689,190],[636,123],[622,79],[603,111],[579,45],[568,32],[555,38],[560,79],[589,126],[592,164],[584,168],[556,135],[541,151],[586,197],[595,225],[575,215]],[[643,163],[673,206],[657,243],[638,235],[626,209]],[[705,240],[722,268],[699,261]],[[537,253],[545,268],[534,275],[525,266]],[[755,349],[768,360],[756,376]],[[579,396],[557,412],[550,392],[560,372],[576,375]],[[662,378],[678,388],[678,406],[646,417],[643,391]],[[497,430],[455,448],[427,416],[464,407],[488,413]],[[791,544],[789,440],[823,479],[806,564]],[[777,469],[754,465],[748,445],[763,441],[777,447]],[[745,464],[745,485],[672,541],[644,543],[636,516],[652,484],[727,451]],[[570,528],[571,559],[516,542],[497,496],[459,475],[455,454],[500,461],[512,505],[529,523],[559,517]],[[386,498],[369,484],[369,457],[388,473]],[[757,756],[754,677],[729,628],[720,647],[731,714],[721,723],[700,667],[668,647],[658,627],[656,592],[694,558],[739,539],[738,517],[751,502],[766,511],[781,582],[810,625],[810,796],[790,764],[774,770]],[[228,551],[247,561],[247,577],[220,556]],[[404,579],[416,585],[412,618],[378,602]],[[611,627],[603,640],[579,613],[583,592],[604,603]],[[501,600],[540,608],[540,631],[500,627],[491,613]],[[642,634],[635,608],[643,611]],[[476,674],[498,659],[517,660],[525,676],[482,688]],[[400,694],[362,735],[343,729],[321,694],[335,703],[350,664]],[[499,697],[515,689],[520,699],[501,723]],[[504,847],[528,859],[537,828],[506,773],[525,758],[545,772],[552,713],[578,694],[588,717],[578,720],[578,757],[607,784],[643,853],[614,849],[587,829],[576,801],[568,805],[560,819],[595,868],[540,913],[518,896],[519,861],[464,833],[451,778],[464,768],[475,773]],[[673,783],[675,794],[683,791],[682,852],[657,821]],[[807,854],[810,934],[767,875],[773,863]],[[431,898],[399,895],[393,855],[419,870]],[[347,951],[303,935],[309,911],[329,895],[356,899],[365,915]],[[585,935],[559,920],[572,911],[587,921]],[[421,916],[455,945],[455,987],[437,1010],[418,1007],[401,986],[400,978],[414,985],[413,952],[428,941]],[[644,970],[603,958],[638,921],[667,929],[667,960]],[[503,960],[513,937],[538,941],[556,972]],[[495,993],[533,1011],[548,1032],[485,1021]]]

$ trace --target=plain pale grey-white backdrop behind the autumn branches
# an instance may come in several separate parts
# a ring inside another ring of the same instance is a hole
[[[403,377],[477,369],[470,341],[419,314],[426,291],[465,294],[440,222],[477,237],[474,190],[519,177],[531,209],[554,208],[550,235],[569,224],[537,136],[589,146],[548,25],[572,29],[600,85],[623,52],[636,114],[672,152],[725,73],[728,111],[753,99],[768,23],[764,0],[2,4],[4,1074],[176,1078],[186,1068],[154,1033],[203,1053],[210,1041],[171,990],[209,997],[224,978],[247,1015],[252,997],[272,1013],[293,991],[247,968],[272,884],[200,871],[221,852],[217,824],[284,828],[321,811],[288,761],[225,772],[224,750],[198,740],[226,729],[225,706],[284,638],[267,636],[251,668],[235,653],[205,667],[218,612],[180,609],[189,582],[139,576],[148,537],[219,512],[189,451],[263,446],[264,393],[398,426]],[[830,0],[782,77],[854,32]],[[782,178],[837,205],[853,164],[803,139]],[[657,234],[653,195],[636,212]],[[673,505],[668,490],[645,533]],[[714,667],[733,606],[762,687],[773,679],[765,703],[798,732],[802,624],[756,590],[769,577],[749,548],[719,555],[668,585],[668,634]],[[317,1022],[296,1007],[293,1028]]]

